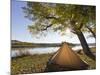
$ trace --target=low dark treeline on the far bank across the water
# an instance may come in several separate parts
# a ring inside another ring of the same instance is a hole
[[[75,46],[75,44],[68,43],[71,46]],[[24,48],[24,47],[59,47],[61,43],[30,43],[30,42],[11,42],[12,48]]]

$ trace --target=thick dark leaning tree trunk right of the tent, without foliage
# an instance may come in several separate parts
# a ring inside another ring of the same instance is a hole
[[[93,55],[93,53],[90,51],[89,47],[88,47],[88,44],[85,40],[85,37],[83,35],[83,33],[81,31],[78,31],[76,32],[80,42],[81,42],[81,45],[83,47],[83,52],[90,58],[92,58],[93,60],[95,60],[95,55]]]

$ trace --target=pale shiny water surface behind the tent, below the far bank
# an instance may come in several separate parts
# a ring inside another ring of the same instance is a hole
[[[94,46],[89,46],[94,47]],[[40,48],[12,48],[11,57],[21,56],[22,54],[45,54],[56,52],[59,47],[40,47]],[[82,49],[81,46],[72,47],[73,50]]]

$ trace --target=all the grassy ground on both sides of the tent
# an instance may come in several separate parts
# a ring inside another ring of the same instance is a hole
[[[95,48],[92,51],[95,52]],[[44,72],[46,63],[53,54],[40,54],[40,55],[24,55],[11,60],[11,74],[27,74],[27,73],[40,73]],[[86,61],[90,67],[89,69],[96,68],[96,62],[81,51],[78,53],[79,57]]]

